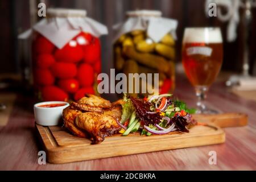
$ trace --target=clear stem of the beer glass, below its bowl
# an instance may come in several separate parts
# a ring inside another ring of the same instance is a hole
[[[204,101],[206,98],[208,87],[207,86],[196,86],[195,90],[196,90],[196,96],[197,96],[197,102],[196,102],[197,113],[204,113],[204,111],[206,110]]]

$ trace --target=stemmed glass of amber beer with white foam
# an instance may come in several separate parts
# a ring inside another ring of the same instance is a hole
[[[218,27],[185,28],[182,64],[197,96],[197,113],[217,113],[204,104],[209,89],[220,72],[223,48]]]

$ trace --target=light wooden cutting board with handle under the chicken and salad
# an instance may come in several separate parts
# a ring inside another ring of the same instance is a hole
[[[234,123],[237,123],[238,120],[234,119],[234,115],[232,114],[231,116]],[[189,133],[175,131],[170,134],[151,135],[149,137],[141,136],[139,133],[129,134],[126,137],[116,134],[112,137],[106,137],[101,144],[90,144],[91,141],[89,139],[75,137],[69,134],[64,127],[35,126],[39,138],[42,140],[44,150],[47,152],[48,162],[59,164],[225,142],[224,130],[214,125],[213,122],[218,121],[217,118],[221,118],[221,121],[225,122],[225,119],[223,119],[225,116],[195,115],[195,117],[200,121],[203,120],[201,122],[209,123],[209,126],[198,125],[192,127]],[[243,117],[246,117],[246,115],[243,115]],[[208,120],[205,118],[208,118]],[[247,118],[243,118],[247,123],[245,119]],[[230,115],[227,121],[230,121]],[[234,126],[234,123],[231,126]],[[246,123],[243,122],[244,125]]]

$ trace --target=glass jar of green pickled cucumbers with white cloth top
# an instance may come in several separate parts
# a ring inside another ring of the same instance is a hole
[[[127,77],[129,73],[159,73],[158,89],[154,88],[154,78],[141,79],[139,93],[135,89],[133,93],[127,93],[134,97],[145,97],[152,94],[147,89],[148,84],[153,88],[153,94],[172,93],[175,88],[177,21],[162,18],[160,11],[129,11],[126,15],[126,22],[118,26],[113,46],[115,71],[125,73]],[[127,81],[127,88],[135,84]],[[143,89],[145,86],[147,88]],[[146,93],[142,90],[146,90]]]

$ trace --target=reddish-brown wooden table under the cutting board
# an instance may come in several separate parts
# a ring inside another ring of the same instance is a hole
[[[196,101],[188,81],[180,77],[175,95],[189,105]],[[249,125],[226,128],[226,142],[213,146],[184,148],[68,164],[38,164],[42,150],[36,138],[31,97],[18,96],[9,123],[0,127],[1,170],[245,170],[256,169],[256,102],[227,92],[218,82],[210,88],[208,104],[223,112],[249,115]],[[149,143],[150,144],[150,143]],[[216,151],[217,164],[208,162],[209,151]],[[104,152],[104,151],[102,151]]]

